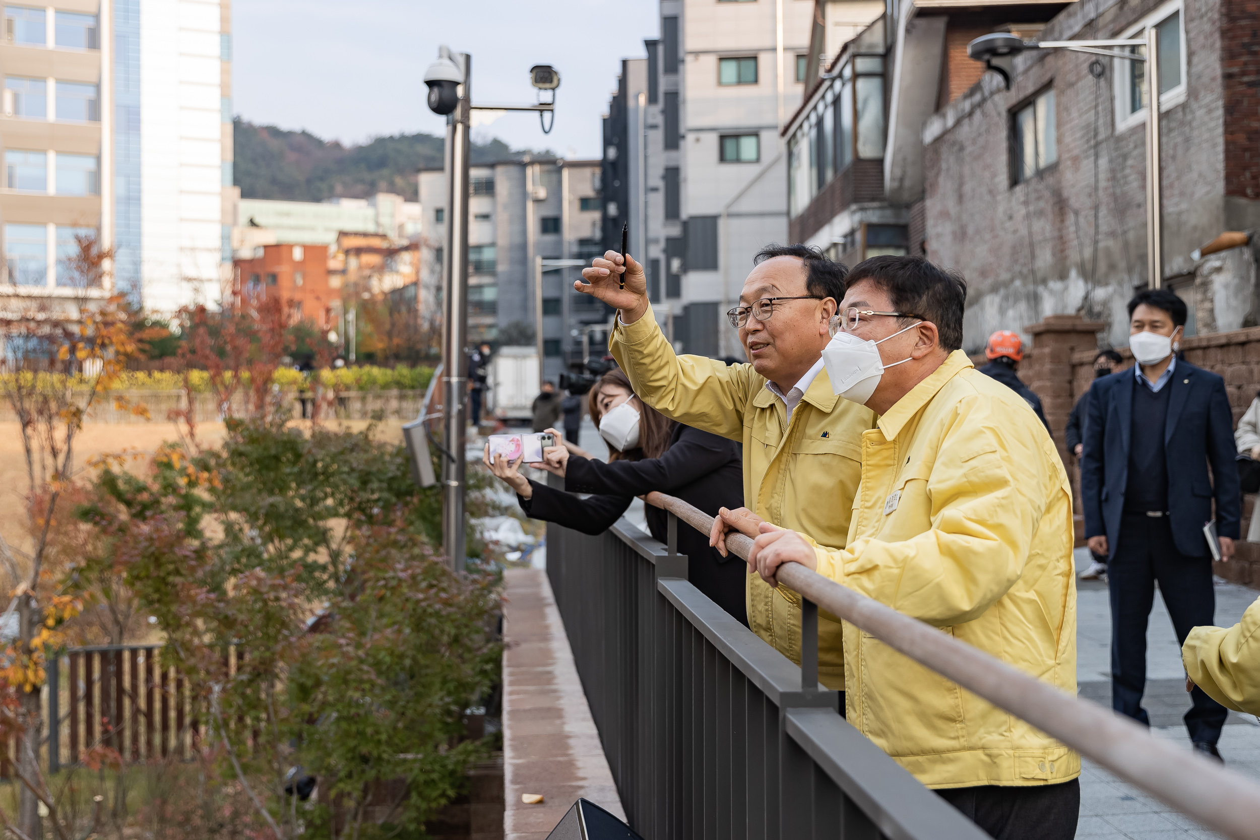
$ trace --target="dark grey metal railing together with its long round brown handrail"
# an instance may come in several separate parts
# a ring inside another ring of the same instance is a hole
[[[669,545],[621,520],[547,529],[547,574],[631,827],[667,837],[985,835],[844,720],[818,683],[818,606],[1228,837],[1260,839],[1260,786],[798,564],[801,667],[687,582],[678,528],[712,519],[669,496]],[[679,524],[678,518],[684,523]],[[747,557],[751,540],[730,535]]]

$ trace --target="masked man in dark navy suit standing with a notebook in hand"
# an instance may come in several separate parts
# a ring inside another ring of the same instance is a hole
[[[1090,550],[1109,554],[1111,705],[1149,725],[1147,620],[1155,582],[1177,631],[1213,623],[1212,519],[1222,557],[1239,538],[1239,474],[1225,380],[1176,356],[1186,304],[1168,290],[1129,301],[1129,349],[1138,364],[1091,388],[1081,452],[1081,497]],[[1212,476],[1208,479],[1208,466]],[[1194,748],[1220,759],[1226,709],[1192,691],[1186,728]]]

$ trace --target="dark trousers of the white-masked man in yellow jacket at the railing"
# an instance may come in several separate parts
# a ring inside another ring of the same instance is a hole
[[[979,785],[936,793],[995,840],[1072,840],[1081,780],[1032,787]]]

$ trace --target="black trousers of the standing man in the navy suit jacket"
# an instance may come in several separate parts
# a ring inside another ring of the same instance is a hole
[[[1216,592],[1212,560],[1186,557],[1173,543],[1168,516],[1124,514],[1120,542],[1108,563],[1111,599],[1111,707],[1138,723],[1150,725],[1142,695],[1147,688],[1147,622],[1155,601],[1155,582],[1177,631],[1186,644],[1192,627],[1213,623]],[[1228,710],[1202,689],[1191,691],[1186,729],[1191,741],[1215,744]]]

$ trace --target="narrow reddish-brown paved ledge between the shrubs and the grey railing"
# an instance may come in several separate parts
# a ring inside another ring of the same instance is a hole
[[[578,797],[625,820],[547,574],[504,578],[504,835],[544,840]],[[523,793],[543,801],[527,805]]]

